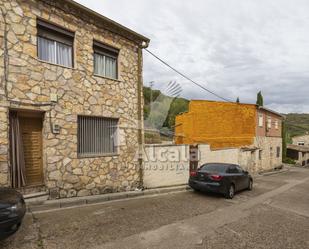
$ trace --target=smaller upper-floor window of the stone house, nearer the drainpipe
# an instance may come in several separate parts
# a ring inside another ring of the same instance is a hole
[[[93,41],[94,74],[107,78],[118,78],[119,50]]]

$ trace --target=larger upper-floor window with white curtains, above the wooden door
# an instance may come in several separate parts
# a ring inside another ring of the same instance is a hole
[[[74,33],[58,26],[37,22],[38,58],[54,64],[73,67]]]

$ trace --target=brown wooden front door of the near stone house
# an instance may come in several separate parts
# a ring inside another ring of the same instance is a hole
[[[28,186],[43,183],[42,118],[19,117]]]

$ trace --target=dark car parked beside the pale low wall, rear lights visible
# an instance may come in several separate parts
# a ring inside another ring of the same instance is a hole
[[[220,193],[232,199],[237,191],[252,190],[253,180],[239,165],[206,163],[190,172],[189,186],[196,191]]]

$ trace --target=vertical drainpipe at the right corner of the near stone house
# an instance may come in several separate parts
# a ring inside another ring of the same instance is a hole
[[[137,82],[137,118],[138,118],[138,169],[139,169],[139,188],[143,188],[143,108],[142,108],[142,93],[143,93],[143,76],[142,76],[142,49],[147,48],[148,42],[143,42],[138,46],[138,82]]]

